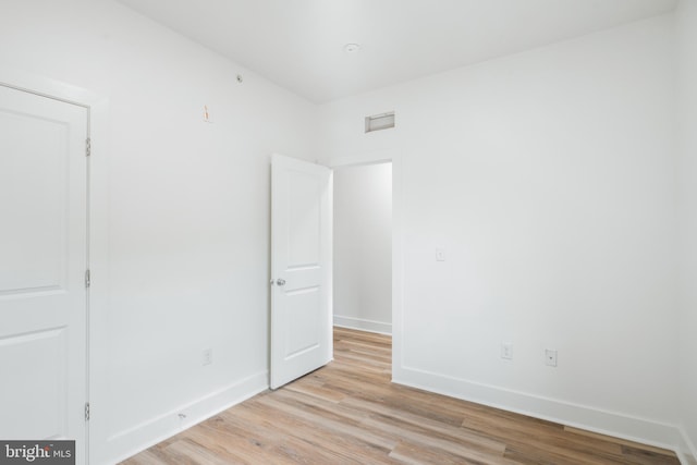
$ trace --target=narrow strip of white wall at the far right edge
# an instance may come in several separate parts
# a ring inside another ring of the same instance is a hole
[[[686,442],[697,457],[697,2],[676,10],[678,46],[680,172],[682,173],[681,416]]]

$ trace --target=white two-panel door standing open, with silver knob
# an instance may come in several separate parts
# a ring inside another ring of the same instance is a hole
[[[271,161],[271,389],[329,363],[331,170]]]

